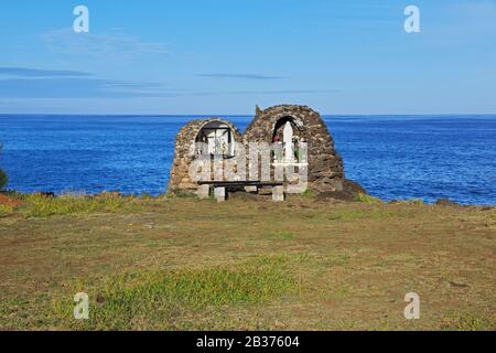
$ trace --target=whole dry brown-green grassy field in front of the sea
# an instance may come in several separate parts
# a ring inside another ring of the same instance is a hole
[[[496,329],[494,207],[12,197],[0,330]],[[73,317],[77,292],[89,320]]]

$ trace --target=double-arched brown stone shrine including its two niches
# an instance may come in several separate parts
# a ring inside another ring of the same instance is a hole
[[[298,151],[291,149],[292,141],[308,143],[308,160],[300,160]],[[196,142],[204,142],[207,151],[198,151]],[[188,176],[191,163],[208,153],[236,156],[236,145],[242,143],[248,151],[250,142],[280,143],[272,163],[302,163],[308,168],[309,189],[316,193],[341,192],[345,184],[343,160],[334,148],[334,141],[319,113],[306,106],[281,105],[261,110],[241,136],[229,121],[212,118],[194,120],[184,126],[175,141],[174,162],[169,191],[195,192],[198,185]],[[290,143],[288,143],[290,142]],[[216,180],[218,181],[218,180]]]

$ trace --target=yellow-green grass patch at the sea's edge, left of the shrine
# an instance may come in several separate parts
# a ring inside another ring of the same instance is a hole
[[[64,194],[50,197],[42,194],[25,194],[21,200],[26,203],[21,213],[25,217],[47,217],[77,213],[112,213],[122,208],[132,208],[133,197],[104,193],[97,196],[84,194]]]

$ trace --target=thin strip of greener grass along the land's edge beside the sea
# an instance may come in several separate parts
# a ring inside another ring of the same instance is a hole
[[[336,197],[337,195],[337,197]],[[206,200],[198,199],[195,194],[188,193],[165,193],[161,195],[149,194],[122,194],[119,192],[103,192],[98,194],[84,193],[66,193],[56,195],[54,193],[18,193],[12,191],[0,192],[0,217],[50,217],[53,215],[78,215],[78,214],[98,214],[98,213],[119,213],[121,210],[134,210],[137,205],[144,203],[154,203],[173,200],[192,200],[198,204],[207,202],[211,205],[216,204],[214,197]],[[238,202],[242,200],[247,206],[256,206],[263,203],[267,205],[274,204],[271,195],[267,194],[249,194],[245,192],[230,193],[226,204]],[[418,205],[425,206],[432,210],[449,207],[456,210],[481,210],[492,211],[496,210],[496,205],[463,205],[450,201],[449,199],[440,199],[434,203],[425,203],[419,199],[411,200],[392,200],[384,202],[378,197],[370,196],[364,193],[357,193],[353,199],[349,194],[343,197],[343,194],[332,193],[304,193],[290,194],[282,204],[291,205],[294,202],[311,202],[310,208],[319,208],[322,205],[328,205],[332,210],[335,204],[345,205],[369,205],[371,207],[387,207],[395,205]],[[277,205],[274,205],[277,206]]]

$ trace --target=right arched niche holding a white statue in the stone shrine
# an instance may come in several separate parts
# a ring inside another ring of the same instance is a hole
[[[279,119],[273,128],[273,163],[306,163],[301,142],[305,142],[300,126],[291,117]]]

